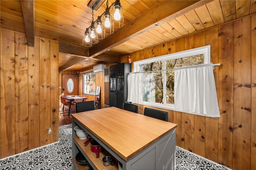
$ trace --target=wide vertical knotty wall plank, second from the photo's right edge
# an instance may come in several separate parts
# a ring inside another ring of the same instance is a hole
[[[234,151],[233,167],[250,169],[251,44],[250,17],[235,21],[234,30]]]

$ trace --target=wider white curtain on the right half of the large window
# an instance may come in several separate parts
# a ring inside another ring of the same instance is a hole
[[[177,111],[220,117],[213,65],[175,69],[174,106]]]

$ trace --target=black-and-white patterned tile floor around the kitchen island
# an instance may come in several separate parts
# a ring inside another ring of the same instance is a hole
[[[59,128],[60,142],[0,160],[0,170],[71,170],[72,125]],[[176,147],[176,170],[230,170]]]

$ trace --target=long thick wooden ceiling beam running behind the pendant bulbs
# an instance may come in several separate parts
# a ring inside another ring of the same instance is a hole
[[[95,57],[124,43],[158,25],[173,20],[190,10],[208,4],[212,0],[168,0],[159,1],[154,7],[130,21],[122,28],[89,49],[89,57]]]

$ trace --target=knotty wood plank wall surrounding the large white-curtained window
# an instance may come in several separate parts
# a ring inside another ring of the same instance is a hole
[[[222,64],[214,69],[220,118],[167,110],[178,125],[176,145],[234,170],[255,170],[256,15],[137,51],[131,61],[204,45],[211,45],[211,62]]]

